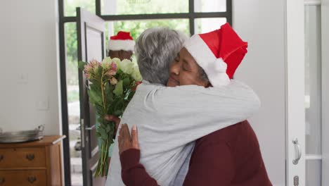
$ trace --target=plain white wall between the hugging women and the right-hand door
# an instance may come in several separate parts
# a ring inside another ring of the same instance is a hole
[[[285,0],[233,1],[233,27],[248,42],[236,73],[262,100],[250,119],[273,185],[285,185]]]

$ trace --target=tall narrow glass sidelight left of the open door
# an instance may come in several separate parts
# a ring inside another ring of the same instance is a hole
[[[66,85],[72,185],[83,185],[76,23],[65,23]]]

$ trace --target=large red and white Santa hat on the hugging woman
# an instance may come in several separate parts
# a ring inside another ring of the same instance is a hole
[[[228,85],[247,53],[247,42],[228,23],[219,30],[193,35],[184,47],[205,70],[213,87]]]

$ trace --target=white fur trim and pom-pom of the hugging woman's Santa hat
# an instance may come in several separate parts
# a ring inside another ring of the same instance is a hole
[[[227,64],[222,58],[216,58],[199,35],[193,35],[184,43],[195,61],[207,74],[213,87],[228,85],[230,78],[226,74]]]

